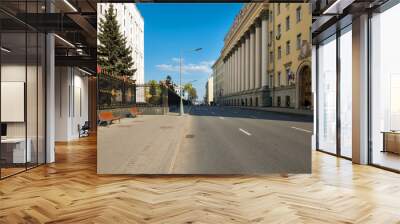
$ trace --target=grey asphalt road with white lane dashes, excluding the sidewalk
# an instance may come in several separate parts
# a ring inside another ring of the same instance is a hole
[[[192,107],[173,174],[311,172],[312,118],[231,107]]]

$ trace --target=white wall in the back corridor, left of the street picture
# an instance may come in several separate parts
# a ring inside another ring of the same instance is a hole
[[[78,125],[89,117],[88,78],[76,68],[56,67],[55,86],[55,141],[77,139]]]

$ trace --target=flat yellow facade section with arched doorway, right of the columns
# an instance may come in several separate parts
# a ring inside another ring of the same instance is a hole
[[[272,106],[311,109],[311,4],[270,4],[269,13]]]

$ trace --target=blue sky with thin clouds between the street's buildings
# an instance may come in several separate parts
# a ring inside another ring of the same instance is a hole
[[[205,84],[212,73],[236,14],[242,4],[136,4],[144,18],[145,81],[164,80],[167,75],[179,84],[179,55],[184,74],[182,83],[193,82],[202,100]],[[199,52],[192,49],[203,48]]]

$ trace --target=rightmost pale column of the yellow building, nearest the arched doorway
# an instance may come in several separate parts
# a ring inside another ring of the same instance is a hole
[[[261,17],[261,86],[268,86],[268,15]]]

